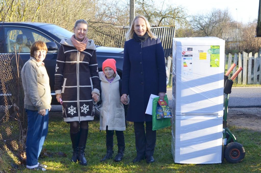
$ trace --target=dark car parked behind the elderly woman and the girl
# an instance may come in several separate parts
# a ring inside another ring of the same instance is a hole
[[[45,67],[50,78],[52,104],[57,104],[54,91],[54,73],[60,41],[70,38],[72,32],[53,24],[35,22],[0,22],[0,54],[14,53],[20,50],[20,56],[25,63],[30,57],[30,48],[35,41],[44,41],[48,47],[45,57]],[[95,43],[95,40],[94,40]],[[15,48],[14,48],[15,47]],[[123,49],[96,46],[98,70],[102,71],[102,63],[108,58],[117,61],[118,74],[122,75]]]

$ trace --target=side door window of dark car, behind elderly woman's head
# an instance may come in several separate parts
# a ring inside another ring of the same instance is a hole
[[[35,41],[54,42],[37,31],[20,28],[5,27],[5,45],[7,52],[30,53],[32,43]]]

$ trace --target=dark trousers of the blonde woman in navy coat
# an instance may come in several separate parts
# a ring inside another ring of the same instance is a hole
[[[156,130],[152,130],[152,122],[145,123],[146,133],[144,129],[144,122],[134,122],[137,156],[151,156],[154,153],[156,144]]]

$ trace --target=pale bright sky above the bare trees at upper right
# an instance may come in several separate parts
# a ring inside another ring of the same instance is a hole
[[[238,15],[238,22],[243,24],[258,17],[259,0],[165,0],[165,3],[181,5],[188,15],[228,8],[233,19],[236,21]]]

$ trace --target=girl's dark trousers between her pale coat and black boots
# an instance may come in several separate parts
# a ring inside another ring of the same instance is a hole
[[[117,136],[117,145],[120,147],[125,147],[123,131],[115,130],[115,133]],[[106,146],[113,146],[113,135],[114,130],[108,130],[108,126],[106,126]]]

